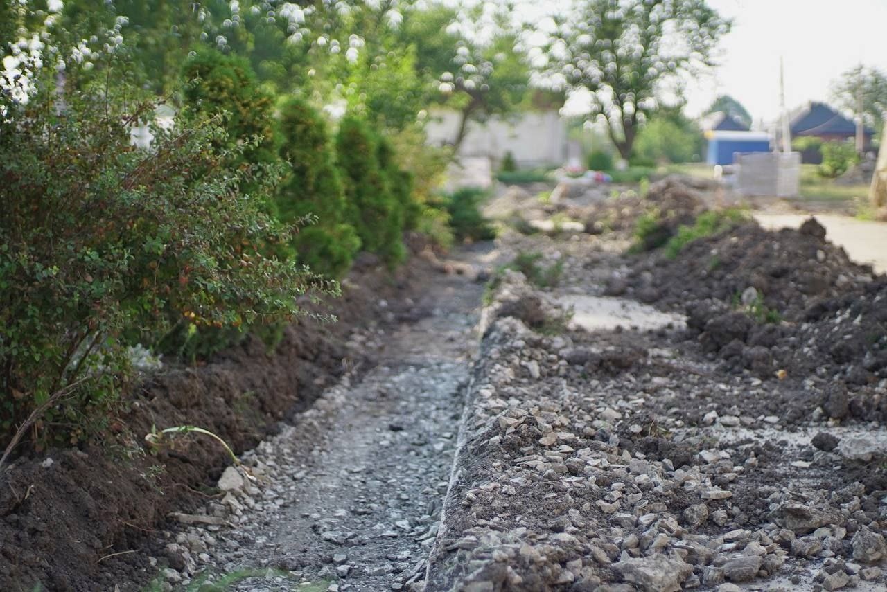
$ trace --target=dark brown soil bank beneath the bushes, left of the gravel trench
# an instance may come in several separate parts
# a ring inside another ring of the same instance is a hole
[[[421,246],[411,241],[414,253]],[[358,261],[341,299],[330,303],[338,323],[290,326],[273,353],[250,338],[208,363],[168,368],[125,398],[105,440],[20,458],[0,481],[0,590],[113,589],[152,578],[156,568],[140,552],[146,535],[169,511],[215,495],[229,459],[196,435],[150,454],[145,433],[198,425],[235,452],[252,448],[346,368],[369,367],[372,354],[349,349],[349,333],[423,315],[409,296],[435,273],[420,256],[396,276],[372,258]]]

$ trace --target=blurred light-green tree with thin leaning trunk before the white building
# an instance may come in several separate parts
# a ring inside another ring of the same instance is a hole
[[[459,112],[458,150],[470,121],[513,113],[526,97],[530,68],[517,51],[506,12],[491,15],[490,31],[472,24],[483,7],[459,12],[443,4],[413,12],[404,38],[416,48],[416,68],[436,89],[436,101]],[[486,38],[485,38],[486,37]]]

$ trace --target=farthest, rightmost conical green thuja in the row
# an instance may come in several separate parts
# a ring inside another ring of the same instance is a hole
[[[380,163],[378,137],[369,125],[354,115],[340,123],[336,153],[349,219],[363,248],[378,254],[389,267],[404,260],[404,208],[391,191],[389,179]]]

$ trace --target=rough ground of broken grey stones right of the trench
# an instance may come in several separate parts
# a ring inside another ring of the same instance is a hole
[[[428,591],[883,586],[880,440],[787,435],[771,389],[667,331],[546,335],[540,314],[562,311],[519,274],[484,313]]]

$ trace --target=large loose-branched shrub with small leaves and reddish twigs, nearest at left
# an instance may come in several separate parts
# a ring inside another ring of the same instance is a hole
[[[279,322],[335,290],[259,248],[293,230],[263,208],[274,171],[228,167],[254,143],[219,150],[225,130],[192,121],[136,148],[155,105],[45,82],[27,105],[0,93],[0,444],[89,435],[135,339]]]

